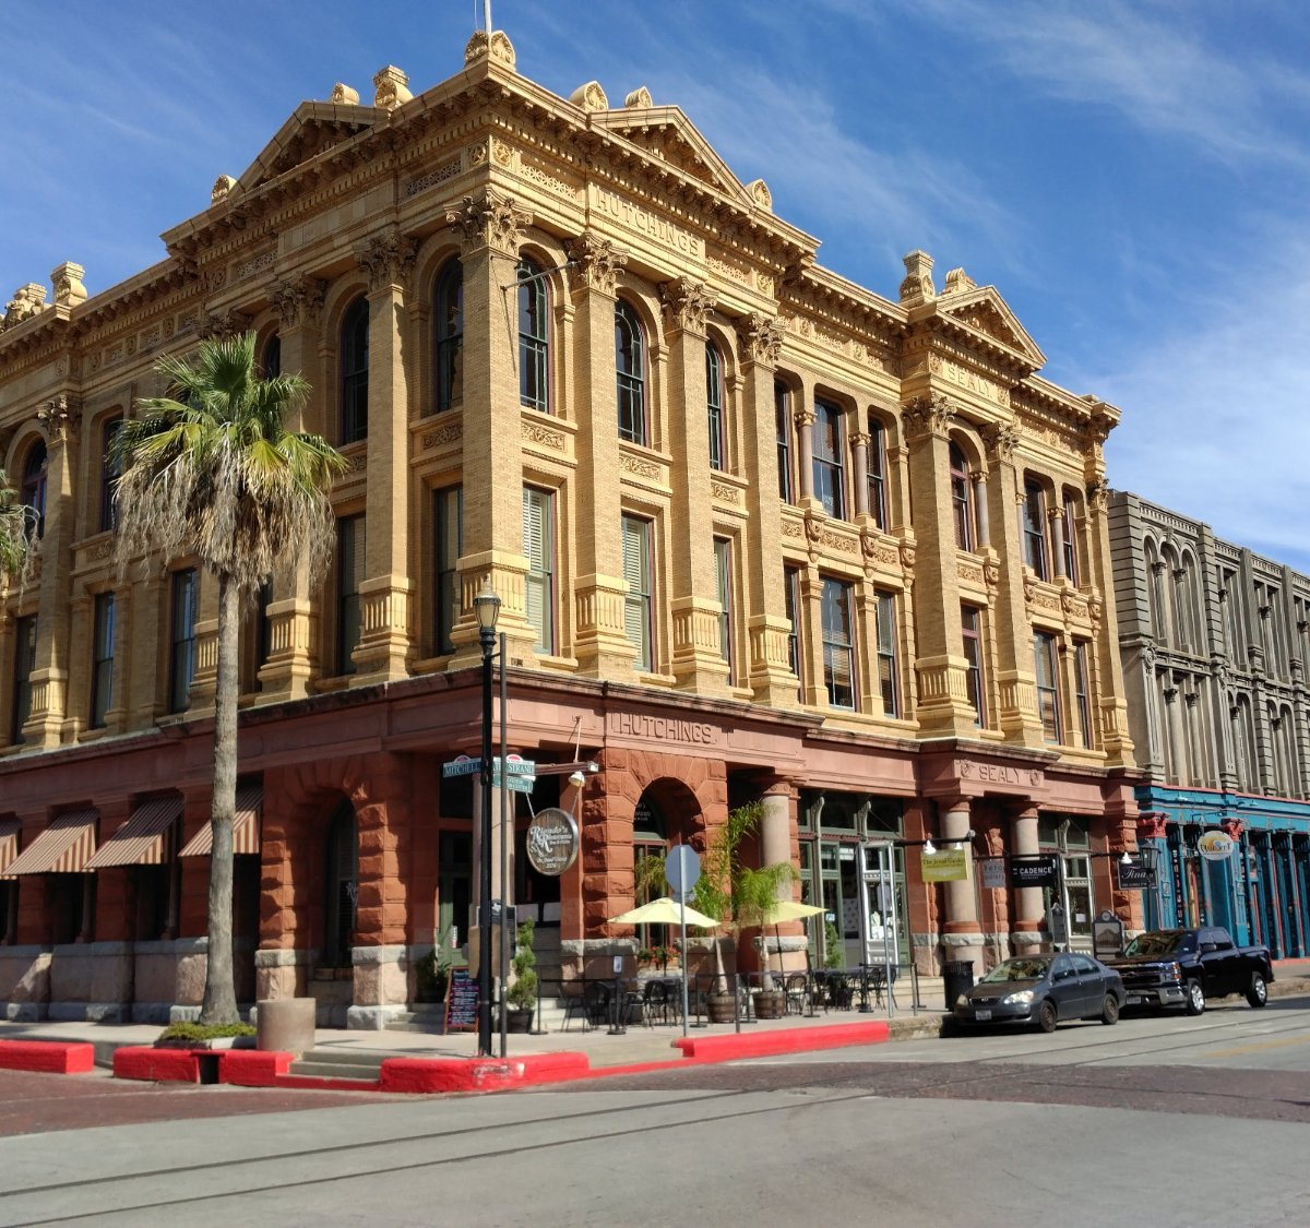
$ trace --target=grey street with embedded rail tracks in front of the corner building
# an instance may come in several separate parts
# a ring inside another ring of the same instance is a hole
[[[241,1115],[0,1140],[0,1224],[1300,1225],[1307,1008],[297,1111],[195,1088]]]

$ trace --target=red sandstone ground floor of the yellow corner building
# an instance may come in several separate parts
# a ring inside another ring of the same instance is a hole
[[[477,672],[363,687],[242,716],[234,932],[242,1002],[313,996],[321,1025],[381,1028],[424,992],[434,947],[469,937],[481,856],[476,786],[443,763],[477,754]],[[935,973],[1051,943],[1052,907],[1090,948],[1106,909],[1140,928],[1114,864],[1136,847],[1133,780],[1049,751],[833,732],[814,713],[510,673],[507,750],[545,768],[508,793],[495,894],[540,924],[542,973],[635,971],[665,935],[610,926],[635,867],[702,850],[728,812],[762,803],[747,864],[790,861],[810,922],[738,936],[743,969],[852,966],[887,954]],[[166,1021],[199,1008],[206,961],[212,727],[0,762],[0,1015]],[[575,778],[576,779],[576,778]],[[523,856],[533,809],[561,806],[580,852],[561,877]],[[499,813],[499,797],[494,813]],[[927,882],[924,852],[963,850],[965,877]],[[875,854],[872,846],[880,846]],[[1015,881],[1045,858],[1052,885]],[[688,958],[707,962],[709,940]],[[734,961],[734,944],[717,953]],[[549,991],[549,988],[548,988]]]

